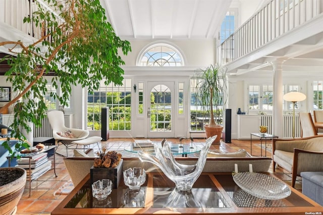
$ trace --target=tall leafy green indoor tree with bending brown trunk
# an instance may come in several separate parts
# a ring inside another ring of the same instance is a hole
[[[43,3],[48,7],[40,5]],[[45,75],[52,74],[52,85],[61,87],[60,94],[51,96],[66,105],[73,85],[93,92],[101,80],[105,84],[122,84],[124,61],[119,51],[124,55],[131,51],[130,42],[121,40],[107,22],[99,0],[43,0],[36,4],[37,11],[25,17],[24,23],[43,29],[41,38],[33,43],[0,41],[0,46],[8,47],[12,53],[1,61],[10,65],[5,75],[16,92],[0,112],[15,105],[12,137],[21,142],[26,140],[21,131],[30,132],[30,123],[41,126],[45,117]],[[15,153],[8,141],[3,145]],[[16,150],[22,145],[17,144]]]

